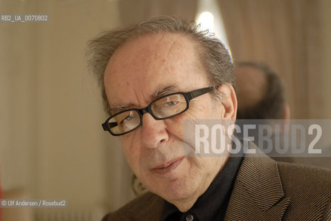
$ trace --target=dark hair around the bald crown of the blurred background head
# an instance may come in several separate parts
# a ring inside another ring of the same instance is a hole
[[[240,62],[236,67],[250,67],[262,71],[267,79],[267,91],[263,99],[254,106],[238,108],[237,119],[283,119],[285,90],[280,77],[269,66],[256,62]]]

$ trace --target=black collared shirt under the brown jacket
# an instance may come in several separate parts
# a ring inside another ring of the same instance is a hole
[[[229,157],[228,162],[226,162],[224,168],[218,173],[206,192],[197,199],[197,202],[186,213],[181,213],[175,205],[165,201],[162,221],[224,220],[235,177],[242,162],[242,156],[242,153],[238,153]]]

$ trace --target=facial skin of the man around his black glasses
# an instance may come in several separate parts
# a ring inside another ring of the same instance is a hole
[[[110,106],[144,108],[165,88],[188,92],[208,87],[195,50],[191,41],[177,34],[129,40],[116,50],[105,71]],[[183,151],[183,119],[222,118],[224,106],[215,102],[207,93],[191,100],[188,111],[171,119],[156,120],[145,113],[143,126],[120,136],[127,162],[138,179],[168,202],[176,205],[196,200],[225,162],[225,157],[186,157]]]

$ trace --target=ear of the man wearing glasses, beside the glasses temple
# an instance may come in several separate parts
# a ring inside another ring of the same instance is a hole
[[[237,97],[231,84],[221,84],[217,90],[222,95],[222,119],[235,119],[237,116]]]

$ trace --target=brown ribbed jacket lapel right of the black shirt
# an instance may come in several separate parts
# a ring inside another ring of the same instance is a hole
[[[276,161],[261,153],[253,142],[240,166],[225,220],[281,220],[289,205],[284,198]]]

